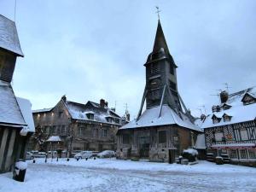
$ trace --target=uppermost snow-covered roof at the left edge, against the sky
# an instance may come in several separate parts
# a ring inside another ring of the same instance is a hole
[[[23,56],[15,22],[0,15],[0,48]]]

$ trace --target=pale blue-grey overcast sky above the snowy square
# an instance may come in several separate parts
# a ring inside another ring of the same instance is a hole
[[[17,0],[16,25],[25,55],[13,86],[32,108],[53,107],[61,96],[108,101],[120,115],[137,115],[145,63],[157,26],[155,5],[177,63],[177,86],[187,108],[218,101],[256,85],[256,1]],[[0,0],[0,14],[15,19],[15,0]]]

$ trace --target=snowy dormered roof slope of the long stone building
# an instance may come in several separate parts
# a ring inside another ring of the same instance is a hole
[[[121,124],[121,119],[117,113],[109,108],[101,108],[96,102],[87,102],[86,104],[78,102],[65,102],[68,112],[73,119],[93,120],[102,123]],[[88,118],[88,114],[93,114],[93,119]],[[108,118],[112,117],[113,121],[108,122]],[[114,119],[119,119],[119,123],[115,123]]]

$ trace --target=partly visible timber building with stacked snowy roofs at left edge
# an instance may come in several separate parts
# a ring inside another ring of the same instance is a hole
[[[0,173],[26,158],[34,131],[31,103],[15,96],[11,86],[17,56],[23,56],[15,22],[0,15]]]

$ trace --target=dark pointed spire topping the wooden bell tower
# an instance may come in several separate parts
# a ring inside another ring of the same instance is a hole
[[[164,32],[162,30],[160,20],[158,20],[158,26],[157,26],[157,30],[156,30],[156,34],[155,34],[155,38],[154,38],[153,52],[157,52],[161,48],[165,49],[166,53],[169,54],[169,49],[166,44],[166,38],[165,38]]]

